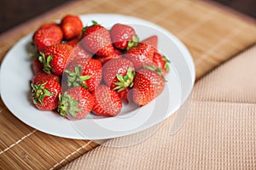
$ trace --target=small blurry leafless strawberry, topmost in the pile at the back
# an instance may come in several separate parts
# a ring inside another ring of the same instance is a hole
[[[79,37],[82,33],[83,23],[78,16],[67,14],[61,20],[61,30],[63,31],[64,38],[70,40],[73,37]]]

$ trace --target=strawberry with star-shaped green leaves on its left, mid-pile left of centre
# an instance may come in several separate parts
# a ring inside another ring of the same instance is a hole
[[[90,92],[102,81],[102,63],[97,59],[74,59],[65,70],[68,87],[83,87]]]

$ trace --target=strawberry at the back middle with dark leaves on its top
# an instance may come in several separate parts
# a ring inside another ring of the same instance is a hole
[[[84,27],[81,43],[85,50],[100,57],[108,57],[113,54],[109,31],[95,21],[92,26]]]

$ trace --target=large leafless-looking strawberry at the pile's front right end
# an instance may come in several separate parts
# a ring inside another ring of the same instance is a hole
[[[134,78],[132,99],[137,105],[146,105],[161,94],[164,87],[165,80],[158,72],[141,69]]]

